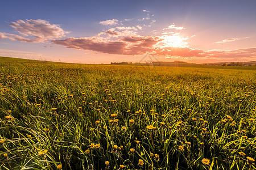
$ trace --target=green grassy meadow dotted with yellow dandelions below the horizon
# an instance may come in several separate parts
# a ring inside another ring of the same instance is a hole
[[[255,67],[1,58],[0,169],[255,169],[255,89]]]

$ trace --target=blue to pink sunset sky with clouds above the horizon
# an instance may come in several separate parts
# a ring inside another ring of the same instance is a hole
[[[256,61],[255,0],[9,0],[0,56],[72,63]]]

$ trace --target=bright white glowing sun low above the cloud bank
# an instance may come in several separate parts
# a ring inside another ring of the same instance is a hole
[[[165,36],[163,40],[162,47],[184,47],[187,45],[187,42],[184,40],[187,40],[186,38],[182,38],[180,36],[171,35],[171,36]]]

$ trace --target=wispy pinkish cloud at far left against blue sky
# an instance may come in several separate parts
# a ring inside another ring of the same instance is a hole
[[[20,35],[11,33],[0,33],[1,39],[10,39],[22,42],[46,42],[48,40],[64,37],[67,31],[60,28],[60,25],[50,24],[42,19],[18,20],[9,23]]]

